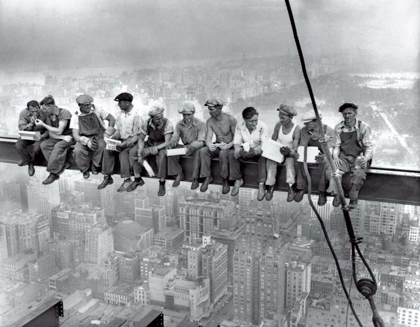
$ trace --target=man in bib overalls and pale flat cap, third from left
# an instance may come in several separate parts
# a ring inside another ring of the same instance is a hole
[[[115,132],[115,118],[103,109],[96,109],[90,95],[81,94],[76,102],[80,113],[76,111],[70,120],[70,128],[76,141],[73,156],[83,178],[87,179],[90,177],[89,167],[93,175],[98,174],[106,146],[104,137],[110,137]],[[108,128],[105,120],[108,120]]]

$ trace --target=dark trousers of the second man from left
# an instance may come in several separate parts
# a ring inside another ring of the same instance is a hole
[[[41,143],[42,154],[47,160],[47,172],[58,174],[66,163],[67,152],[70,146],[76,142],[70,143],[64,140],[51,139],[50,137]]]

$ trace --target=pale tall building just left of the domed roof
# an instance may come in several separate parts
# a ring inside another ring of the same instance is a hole
[[[86,231],[85,262],[100,264],[113,251],[112,229],[108,225],[99,222]]]

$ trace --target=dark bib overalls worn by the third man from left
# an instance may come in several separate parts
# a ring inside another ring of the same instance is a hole
[[[74,146],[74,159],[82,173],[89,170],[90,162],[92,161],[95,167],[101,166],[102,154],[106,146],[103,139],[105,128],[102,127],[99,118],[95,112],[90,112],[87,115],[79,115],[79,135],[87,136],[89,139],[96,141],[97,148],[95,150],[89,149],[89,146],[83,145],[80,142]]]

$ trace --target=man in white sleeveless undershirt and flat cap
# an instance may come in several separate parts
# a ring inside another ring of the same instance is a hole
[[[289,184],[287,191],[287,201],[294,200],[296,191],[296,173],[294,170],[295,154],[299,146],[300,127],[293,122],[293,117],[297,115],[296,110],[291,105],[281,104],[278,108],[278,122],[274,126],[273,141],[284,145],[281,153],[286,157],[284,165],[286,166],[286,183]],[[276,189],[276,175],[278,162],[267,159],[267,182],[268,186],[265,199],[270,201],[273,199],[273,192]]]

